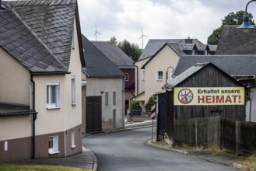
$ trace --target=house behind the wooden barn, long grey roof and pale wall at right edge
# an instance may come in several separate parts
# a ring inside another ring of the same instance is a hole
[[[216,65],[223,72],[237,79],[240,83],[248,88],[248,95],[251,99],[246,102],[246,117],[245,120],[256,122],[256,89],[255,89],[255,55],[184,55],[181,56],[177,68],[175,69],[174,76],[181,75],[191,66],[197,63],[211,62]],[[239,64],[239,65],[238,65]]]

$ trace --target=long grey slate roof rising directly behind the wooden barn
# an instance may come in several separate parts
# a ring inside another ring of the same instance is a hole
[[[205,62],[211,62],[231,76],[256,75],[256,55],[184,55],[179,59],[174,76],[196,63]]]

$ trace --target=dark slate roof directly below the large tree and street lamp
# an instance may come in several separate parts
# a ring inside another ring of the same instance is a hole
[[[217,54],[256,54],[256,29],[243,33],[237,26],[224,26]]]

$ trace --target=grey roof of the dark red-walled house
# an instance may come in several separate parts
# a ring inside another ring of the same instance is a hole
[[[105,54],[114,65],[117,65],[118,68],[135,68],[132,58],[128,57],[128,55],[121,51],[115,44],[109,41],[92,41],[92,43]]]

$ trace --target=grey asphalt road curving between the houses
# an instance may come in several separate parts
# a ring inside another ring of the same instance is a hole
[[[192,155],[182,155],[146,145],[146,141],[150,139],[151,127],[147,127],[96,134],[83,138],[82,142],[96,155],[99,171],[236,170],[197,159]]]

